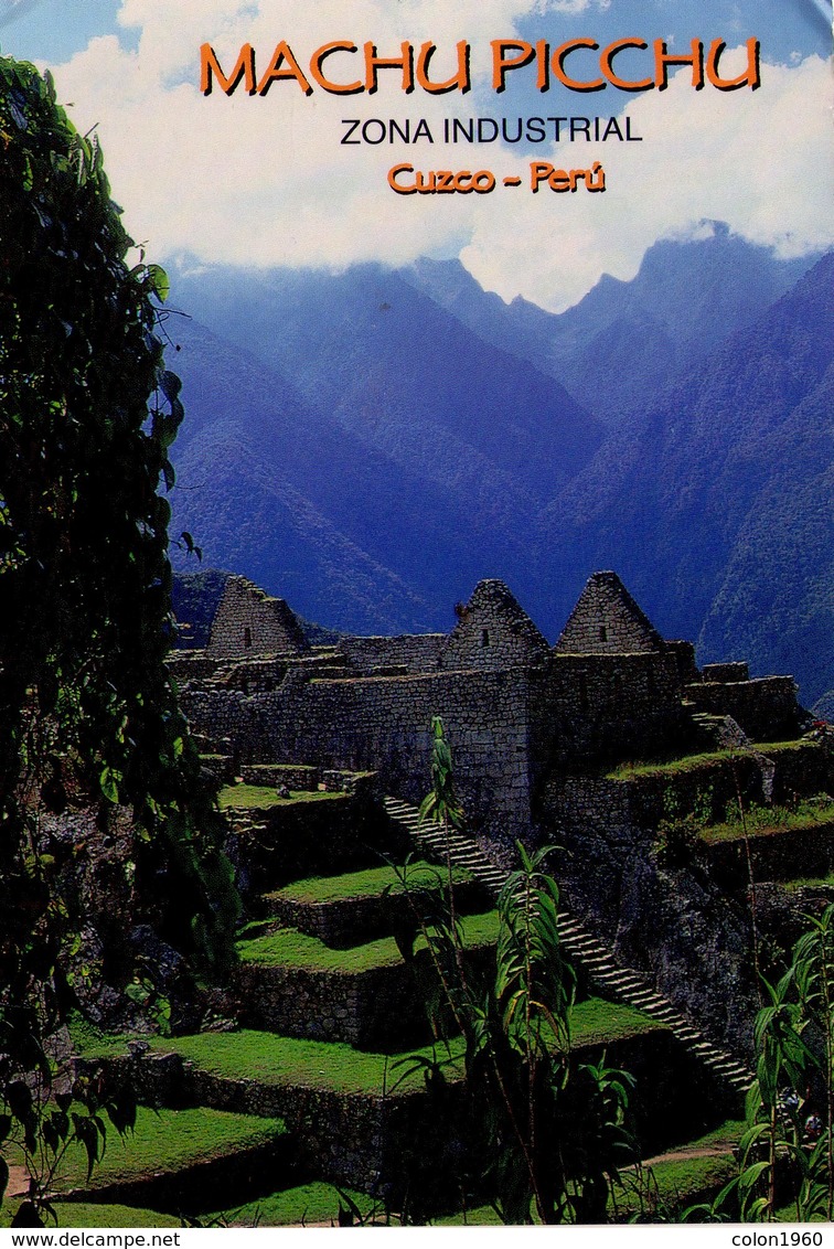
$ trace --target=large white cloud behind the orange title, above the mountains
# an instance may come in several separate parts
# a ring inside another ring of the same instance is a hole
[[[581,11],[588,4],[551,0],[544,7]],[[694,92],[684,72],[665,92],[629,97],[643,142],[579,140],[559,145],[558,154],[549,145],[537,150],[538,159],[558,155],[567,167],[602,160],[604,195],[531,195],[522,186],[486,196],[400,196],[386,181],[395,161],[491,167],[501,176],[518,169],[524,182],[529,161],[498,144],[340,145],[343,117],[410,117],[412,126],[426,117],[439,139],[443,119],[456,112],[516,116],[518,106],[502,96],[405,96],[391,71],[381,75],[375,96],[305,97],[292,82],[273,84],[263,97],[218,90],[204,97],[197,90],[204,41],[227,70],[241,44],[252,42],[262,71],[280,39],[302,65],[333,39],[373,39],[383,55],[402,39],[431,39],[439,75],[452,71],[454,42],[468,37],[473,70],[482,72],[488,40],[511,37],[519,19],[543,6],[458,0],[451,9],[446,0],[396,6],[317,0],[300,17],[295,0],[124,0],[120,21],[139,32],[136,51],[115,36],[94,40],[56,67],[56,80],[61,97],[75,101],[76,124],[86,130],[99,122],[114,195],[154,259],[189,252],[201,260],[342,267],[373,259],[402,264],[462,247],[472,272],[506,299],[521,294],[561,309],[604,271],[632,276],[655,239],[694,229],[704,217],[728,221],[783,254],[834,241],[830,77],[817,57],[790,69],[765,65],[757,92]],[[729,54],[724,69],[730,71]],[[573,111],[608,114],[622,100],[613,90],[577,96]],[[529,111],[553,110],[542,96]]]

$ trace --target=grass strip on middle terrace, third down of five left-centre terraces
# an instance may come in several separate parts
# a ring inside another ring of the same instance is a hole
[[[461,928],[464,944],[473,949],[494,944],[498,937],[498,913],[488,911],[481,916],[462,916]],[[417,942],[417,949],[423,943]],[[318,937],[308,937],[296,928],[281,928],[266,937],[238,942],[241,963],[258,967],[295,967],[305,970],[355,974],[378,967],[397,967],[403,962],[393,937],[352,945],[350,949],[331,949]]]

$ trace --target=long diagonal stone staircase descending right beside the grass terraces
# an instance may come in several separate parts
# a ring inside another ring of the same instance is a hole
[[[417,808],[398,798],[387,796],[385,807],[388,816],[418,847],[441,861],[448,854],[454,866],[464,867],[493,897],[498,897],[509,873],[497,867],[473,838],[458,831],[449,831],[447,836],[437,826],[421,823]],[[668,998],[657,992],[648,977],[618,964],[613,950],[569,912],[561,909],[558,924],[566,953],[586,969],[597,990],[657,1019],[737,1093],[745,1093],[750,1088],[753,1072],[733,1054],[708,1040]]]

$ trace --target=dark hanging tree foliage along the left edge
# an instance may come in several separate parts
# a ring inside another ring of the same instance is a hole
[[[132,812],[131,869],[202,970],[228,957],[236,913],[164,664],[160,488],[182,405],[159,335],[167,280],[131,247],[96,139],[49,77],[0,59],[0,1095],[21,1124],[10,1090],[54,1073],[45,1040],[72,1000],[80,923],[44,811],[84,796],[102,833],[116,806]]]

